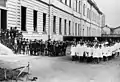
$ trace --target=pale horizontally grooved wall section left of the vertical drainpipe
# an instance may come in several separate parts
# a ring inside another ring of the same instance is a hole
[[[48,2],[48,0],[45,0]],[[21,6],[26,7],[26,29],[23,31],[25,38],[48,39],[48,35],[43,33],[43,13],[46,13],[46,32],[48,32],[48,5],[35,0],[8,0],[7,18],[8,28],[18,27],[21,30]],[[37,32],[33,31],[33,10],[37,11]]]

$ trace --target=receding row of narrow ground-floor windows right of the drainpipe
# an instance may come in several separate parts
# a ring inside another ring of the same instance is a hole
[[[64,21],[64,25],[63,25],[63,29],[64,29],[64,32],[62,32],[62,21]],[[67,22],[68,22],[68,25],[67,25]],[[57,23],[57,20],[56,20],[56,16],[53,16],[53,33],[56,34],[56,23]],[[72,26],[72,22],[71,21],[67,21],[66,19],[62,19],[62,18],[59,18],[59,34],[64,34],[64,35],[81,35],[81,26],[80,24],[77,24],[77,23],[74,23],[73,22],[73,26]],[[67,29],[67,26],[68,26],[68,29]],[[74,28],[75,26],[75,28]]]

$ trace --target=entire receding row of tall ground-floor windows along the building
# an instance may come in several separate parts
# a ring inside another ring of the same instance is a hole
[[[21,7],[21,30],[27,31],[26,28],[26,7]],[[33,31],[37,32],[38,28],[38,12],[36,10],[33,10]],[[53,33],[56,34],[56,16],[53,16]],[[64,21],[64,32],[62,32],[62,22]],[[68,25],[67,25],[68,22]],[[73,23],[73,24],[72,24]],[[73,26],[72,26],[73,25]],[[67,29],[68,26],[68,29]],[[87,28],[87,35],[89,35],[90,29]],[[46,13],[43,13],[43,32],[46,33]],[[67,19],[59,18],[59,34],[67,35],[67,32],[69,35],[84,35],[84,29],[81,28],[81,25],[78,23],[74,23],[71,21],[67,21]]]

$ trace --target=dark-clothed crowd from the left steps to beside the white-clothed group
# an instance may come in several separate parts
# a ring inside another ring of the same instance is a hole
[[[68,41],[43,41],[29,40],[23,38],[22,32],[17,27],[1,31],[1,43],[9,47],[15,54],[27,55],[47,55],[47,56],[63,56],[66,47],[71,43]]]

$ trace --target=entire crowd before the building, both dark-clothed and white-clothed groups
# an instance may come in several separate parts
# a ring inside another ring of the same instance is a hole
[[[94,62],[107,61],[119,55],[120,41],[47,41],[23,38],[17,27],[1,31],[1,43],[9,47],[15,54],[33,56],[64,56],[70,46],[73,61]]]

